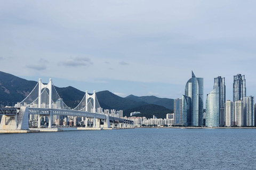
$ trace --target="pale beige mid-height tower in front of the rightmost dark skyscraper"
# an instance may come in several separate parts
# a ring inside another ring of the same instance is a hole
[[[244,111],[243,111],[243,101],[238,100],[235,101],[235,106],[234,106],[234,125],[236,126],[244,126]]]

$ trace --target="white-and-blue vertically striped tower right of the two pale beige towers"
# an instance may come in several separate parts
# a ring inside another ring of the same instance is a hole
[[[243,98],[244,126],[254,126],[254,97]]]

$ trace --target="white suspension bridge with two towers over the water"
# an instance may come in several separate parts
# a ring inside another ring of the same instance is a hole
[[[37,128],[41,128],[42,119],[45,120],[46,117],[49,129],[53,128],[53,120],[60,117],[66,117],[66,120],[67,117],[73,120],[79,117],[87,129],[133,128],[133,121],[126,120],[119,114],[111,114],[109,110],[105,111],[100,107],[95,91],[91,95],[86,91],[80,103],[71,109],[58,94],[52,79],[47,84],[39,79],[35,88],[21,102],[14,107],[0,108],[0,130],[28,130],[29,117],[36,118]]]

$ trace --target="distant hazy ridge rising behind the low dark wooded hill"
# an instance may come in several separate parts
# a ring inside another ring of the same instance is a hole
[[[134,96],[130,95],[125,97],[126,99],[131,99],[133,101],[144,101],[148,104],[154,104],[154,105],[159,105],[159,106],[164,106],[166,108],[172,109],[173,110],[173,99],[168,99],[168,98],[158,98],[156,96]]]

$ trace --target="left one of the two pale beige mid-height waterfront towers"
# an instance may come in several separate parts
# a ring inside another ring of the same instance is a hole
[[[242,109],[242,108],[241,108]],[[234,103],[233,101],[227,100],[225,103],[225,126],[232,126],[234,124]]]

